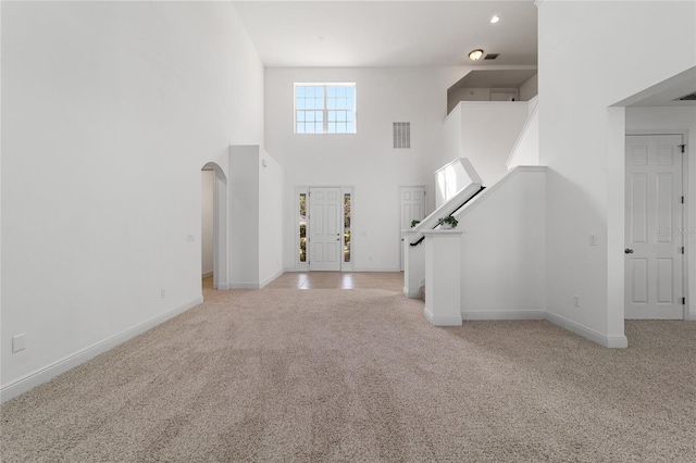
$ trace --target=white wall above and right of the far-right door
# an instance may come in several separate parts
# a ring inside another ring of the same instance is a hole
[[[687,152],[696,152],[696,107],[626,108],[626,133],[659,133],[684,130]],[[687,298],[689,320],[696,320],[696,159],[687,155],[687,198],[686,217],[688,225],[685,235],[686,259],[688,261]]]

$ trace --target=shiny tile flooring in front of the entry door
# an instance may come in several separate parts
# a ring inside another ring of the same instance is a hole
[[[212,277],[203,278],[212,289]],[[263,289],[386,289],[403,290],[402,272],[286,272]]]

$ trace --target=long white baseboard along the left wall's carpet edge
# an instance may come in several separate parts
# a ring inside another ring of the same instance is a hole
[[[145,322],[127,328],[116,335],[113,335],[71,355],[64,356],[61,360],[50,363],[49,365],[29,373],[21,377],[20,379],[16,379],[8,385],[3,385],[2,387],[0,387],[0,402],[5,402],[30,389],[34,389],[36,386],[51,380],[61,373],[65,373],[69,370],[72,370],[75,366],[99,355],[100,353],[104,353],[108,350],[111,350],[114,347],[119,346],[120,343],[123,343],[128,339],[132,339],[147,331],[148,329],[153,328],[157,325],[166,322],[167,320],[173,318],[176,315],[184,313],[187,310],[192,309],[201,303],[203,303],[202,296],[194,298],[190,301],[175,306],[174,309],[171,309],[160,315],[146,320]]]

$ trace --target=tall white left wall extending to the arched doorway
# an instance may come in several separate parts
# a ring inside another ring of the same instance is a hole
[[[2,10],[7,399],[201,301],[200,170],[262,142],[264,71],[229,3]]]

